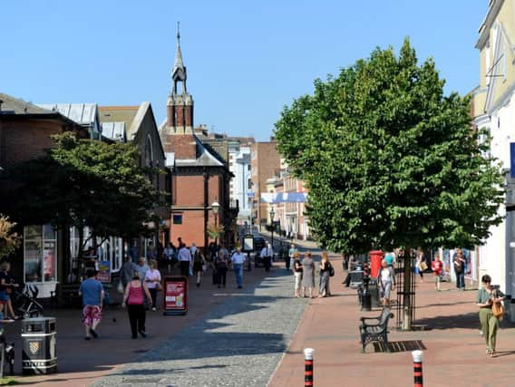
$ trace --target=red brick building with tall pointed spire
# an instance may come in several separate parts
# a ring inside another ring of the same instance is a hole
[[[160,139],[171,168],[170,240],[181,237],[187,245],[207,247],[208,227],[232,223],[228,187],[231,174],[227,160],[203,144],[193,131],[193,98],[186,88],[186,67],[180,51],[180,34],[167,100],[167,121]],[[219,203],[219,209],[213,208]],[[215,212],[218,212],[215,214]],[[228,232],[222,237],[229,243]]]

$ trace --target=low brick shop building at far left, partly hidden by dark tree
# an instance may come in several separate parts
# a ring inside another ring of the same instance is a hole
[[[0,93],[0,200],[5,215],[10,215],[8,201],[2,199],[12,188],[10,167],[15,162],[44,156],[44,150],[54,146],[50,136],[64,131],[74,131],[79,138],[90,138],[87,129],[59,111],[48,111]],[[12,272],[24,282],[36,283],[41,296],[49,296],[55,283],[63,282],[66,276],[63,265],[69,259],[67,230],[41,224],[18,224],[18,227],[24,235],[23,260],[13,261]]]

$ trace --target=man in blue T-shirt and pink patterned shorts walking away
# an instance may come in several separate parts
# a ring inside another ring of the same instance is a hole
[[[87,279],[79,287],[79,295],[83,297],[83,324],[84,339],[90,340],[91,336],[97,338],[98,324],[102,321],[102,304],[105,295],[103,286],[95,276],[94,270],[86,271]]]

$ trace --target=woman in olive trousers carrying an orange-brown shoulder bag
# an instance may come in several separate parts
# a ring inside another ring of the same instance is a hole
[[[483,287],[478,290],[476,305],[480,308],[481,332],[486,342],[486,353],[495,357],[495,345],[497,342],[497,330],[499,319],[493,315],[491,306],[494,303],[502,302],[506,298],[499,289],[491,285],[491,276],[481,276]]]

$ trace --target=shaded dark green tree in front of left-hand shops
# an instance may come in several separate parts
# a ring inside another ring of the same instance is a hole
[[[78,140],[73,133],[53,136],[56,146],[36,160],[11,169],[17,188],[10,213],[24,224],[50,222],[79,230],[80,254],[95,237],[138,237],[148,233],[158,192],[149,177],[159,173],[138,165],[138,150],[127,143]]]

